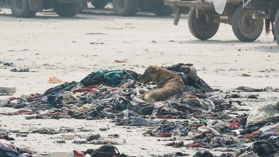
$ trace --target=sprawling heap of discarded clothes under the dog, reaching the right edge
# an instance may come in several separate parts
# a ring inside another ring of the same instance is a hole
[[[181,76],[185,84],[182,95],[173,94],[165,101],[148,103],[137,97],[156,88],[154,83],[144,85],[137,82],[140,74],[131,70],[99,70],[91,72],[80,82],[66,82],[43,94],[11,97],[11,104],[6,106],[19,110],[2,114],[38,114],[34,117],[86,120],[106,117],[113,119],[115,125],[154,126],[155,129],[146,131],[144,135],[165,137],[162,140],[172,141],[167,145],[173,147],[244,147],[245,151],[260,156],[277,153],[279,101],[275,97],[249,115],[237,114],[233,118],[234,113],[225,110],[249,110],[240,106],[241,102],[232,100],[240,97],[236,92],[277,92],[278,89],[239,87],[223,93],[219,89],[213,90],[199,78],[192,64],[180,63],[163,68]],[[163,120],[150,120],[154,118]],[[166,118],[181,121],[169,122]],[[99,138],[91,140],[92,143],[100,142]],[[176,140],[194,142],[184,145]]]

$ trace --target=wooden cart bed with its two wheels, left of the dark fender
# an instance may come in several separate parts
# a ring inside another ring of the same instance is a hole
[[[219,24],[225,23],[232,25],[232,30],[240,41],[253,42],[261,35],[263,30],[263,19],[265,17],[263,17],[261,11],[265,11],[268,7],[255,9],[252,5],[254,3],[253,0],[248,1],[251,4],[249,8],[243,5],[247,0],[227,0],[223,14],[217,14],[213,3],[207,3],[204,0],[167,0],[165,4],[171,5],[175,9],[175,25],[178,24],[182,12],[190,11],[188,16],[190,32],[200,40],[207,40],[213,37],[219,28]],[[270,2],[272,0],[256,1]],[[253,15],[256,16],[253,18]]]

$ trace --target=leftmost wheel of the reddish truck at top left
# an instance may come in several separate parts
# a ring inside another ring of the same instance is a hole
[[[11,0],[11,9],[17,18],[27,18],[31,12],[29,0]]]

